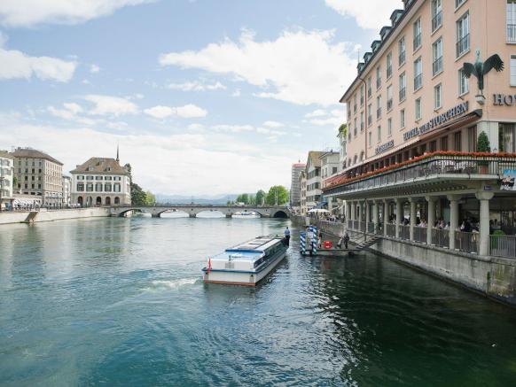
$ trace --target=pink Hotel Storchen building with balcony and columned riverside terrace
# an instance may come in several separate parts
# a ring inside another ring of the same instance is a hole
[[[403,5],[340,100],[347,159],[324,197],[346,203],[349,229],[505,256],[490,234],[516,234],[516,0]],[[504,70],[485,75],[481,97],[463,67],[494,54]],[[432,227],[440,219],[446,229]],[[463,221],[473,229],[458,231]]]

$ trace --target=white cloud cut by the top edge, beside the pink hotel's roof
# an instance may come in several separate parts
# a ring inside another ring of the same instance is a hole
[[[403,9],[401,0],[325,0],[326,5],[363,28],[390,26],[389,17],[396,8]]]

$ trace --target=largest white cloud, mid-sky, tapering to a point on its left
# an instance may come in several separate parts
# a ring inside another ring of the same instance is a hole
[[[244,31],[239,42],[226,39],[194,51],[160,56],[161,66],[200,68],[231,74],[261,90],[258,97],[293,104],[337,104],[356,75],[350,43],[332,43],[332,31],[285,31],[274,41],[257,42]]]

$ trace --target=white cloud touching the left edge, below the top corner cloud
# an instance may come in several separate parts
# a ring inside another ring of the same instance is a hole
[[[0,80],[33,76],[40,80],[67,82],[72,79],[77,64],[51,57],[30,57],[19,50],[7,50],[7,37],[0,33]]]

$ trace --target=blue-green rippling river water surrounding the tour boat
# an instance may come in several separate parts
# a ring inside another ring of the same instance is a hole
[[[0,385],[516,385],[516,311],[388,259],[287,258],[256,289],[208,254],[267,219],[0,227]]]

